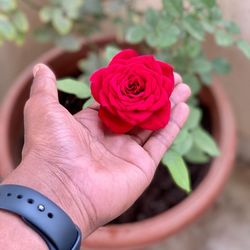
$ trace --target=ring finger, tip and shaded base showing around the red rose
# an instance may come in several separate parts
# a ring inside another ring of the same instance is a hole
[[[174,109],[178,103],[185,102],[190,95],[191,90],[188,85],[184,83],[178,84],[170,97],[171,109]],[[136,128],[133,129],[129,134],[131,135],[132,139],[142,146],[148,140],[152,134],[152,131]]]

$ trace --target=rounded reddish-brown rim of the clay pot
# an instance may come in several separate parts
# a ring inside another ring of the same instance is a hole
[[[96,39],[98,41],[100,38],[94,38],[92,42],[95,42]],[[113,37],[109,39],[112,40]],[[88,42],[89,40],[84,41],[83,45]],[[48,63],[61,53],[65,52],[58,48],[52,49],[28,66],[17,78],[15,81],[16,84],[11,88],[11,91],[4,99],[0,113],[0,138],[2,138],[1,147],[2,145],[8,146],[2,147],[1,149],[4,153],[0,159],[0,166],[6,173],[11,168],[9,164],[11,162],[11,153],[9,150],[8,133],[6,133],[6,131],[8,130],[8,124],[10,122],[9,114],[11,110],[14,109],[13,100],[18,97],[20,91],[25,87],[24,83],[27,83],[27,81],[32,78],[32,67],[36,63]],[[209,89],[215,98],[215,104],[218,109],[217,112],[220,115],[219,126],[221,134],[219,135],[219,148],[221,155],[213,160],[211,168],[202,183],[179,205],[157,216],[141,222],[110,225],[99,228],[97,232],[88,237],[85,242],[86,246],[100,248],[105,246],[109,249],[117,249],[117,247],[142,246],[161,240],[179,231],[197,218],[216,198],[222,190],[233,167],[236,148],[236,129],[230,103],[221,85],[214,80]]]

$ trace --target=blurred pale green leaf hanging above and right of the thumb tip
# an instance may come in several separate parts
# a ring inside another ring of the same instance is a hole
[[[60,35],[68,34],[73,26],[72,21],[63,14],[61,9],[54,10],[52,24]]]

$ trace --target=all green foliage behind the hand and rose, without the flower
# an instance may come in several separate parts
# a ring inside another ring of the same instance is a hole
[[[81,38],[90,37],[101,30],[105,21],[115,28],[119,41],[139,44],[142,53],[154,54],[156,58],[174,65],[192,89],[189,100],[191,113],[163,162],[176,184],[189,192],[191,188],[186,162],[202,164],[219,154],[213,138],[202,128],[203,111],[198,94],[203,85],[212,83],[214,73],[230,71],[230,65],[224,58],[207,58],[203,41],[207,35],[212,35],[217,45],[237,46],[250,58],[250,45],[240,39],[240,29],[234,22],[223,19],[216,1],[162,0],[162,8],[145,10],[138,8],[136,1],[131,0],[20,2],[37,12],[41,25],[33,33],[40,42],[53,42],[58,47],[75,51],[80,49]],[[1,42],[8,40],[22,44],[29,32],[29,21],[17,3],[19,1],[0,0]],[[90,52],[86,59],[79,62],[83,72],[79,81],[59,81],[59,89],[88,98],[88,76],[104,66],[117,51],[119,48],[114,42],[105,52]]]

